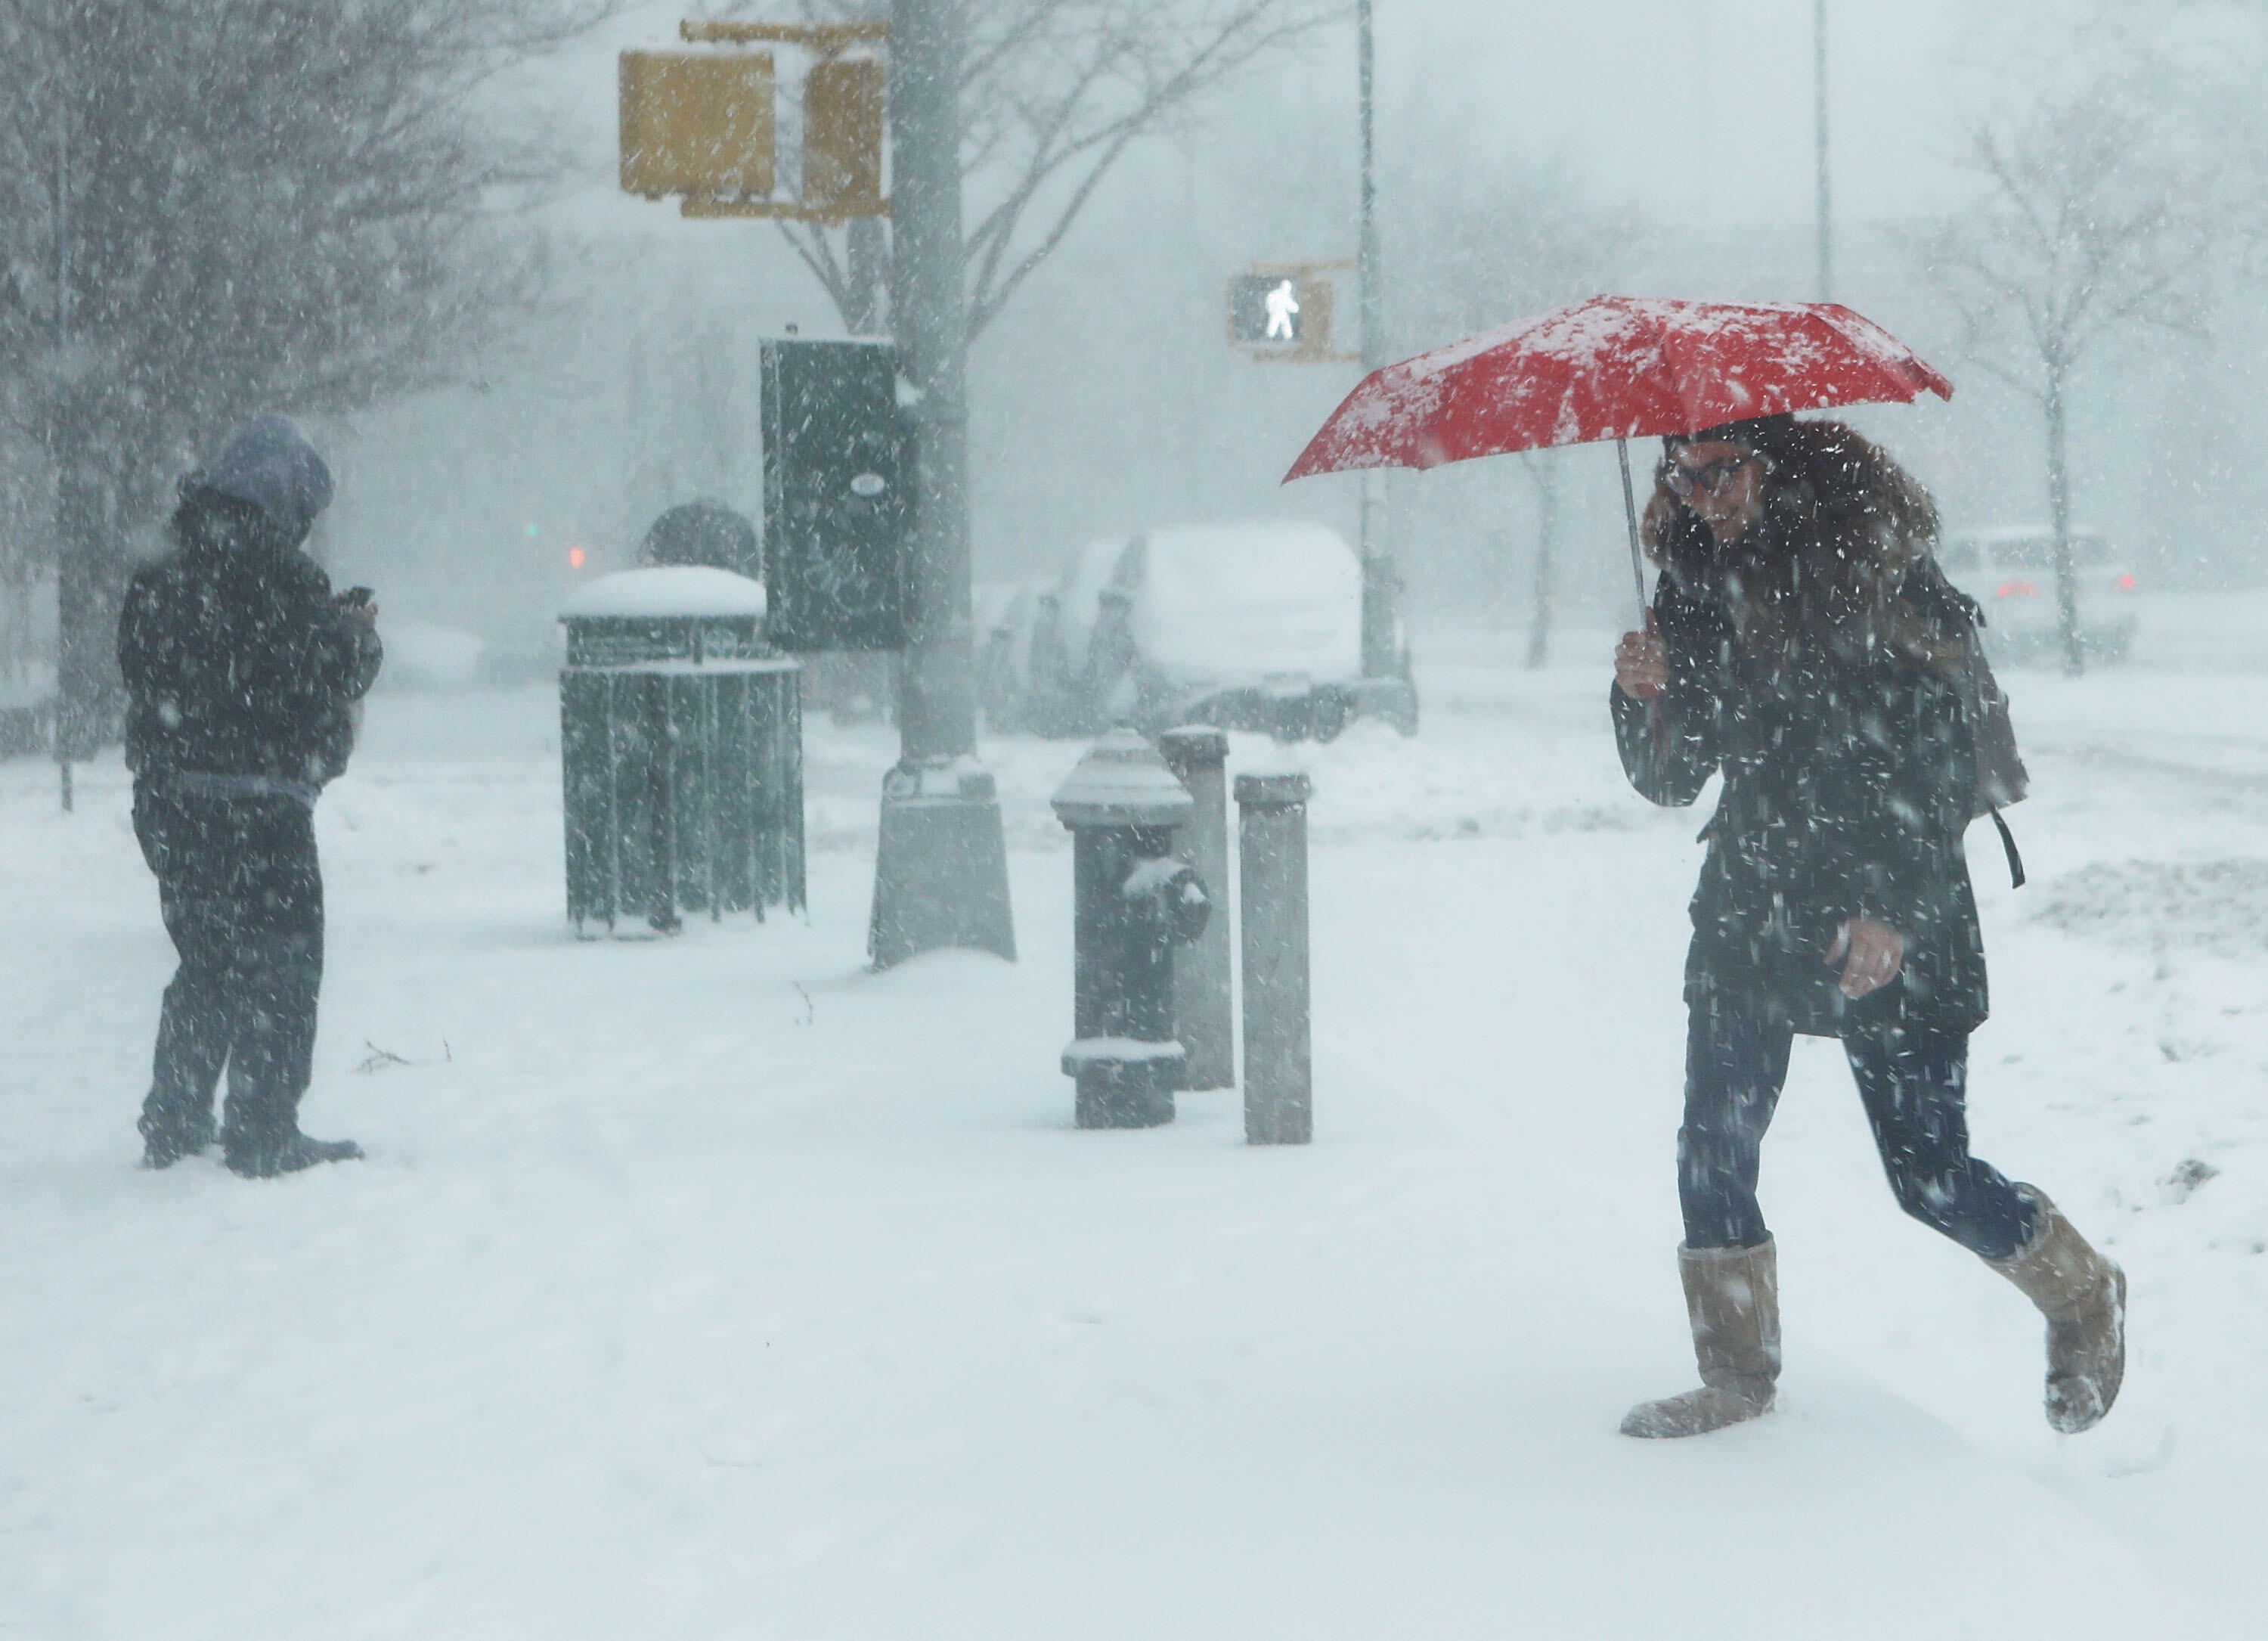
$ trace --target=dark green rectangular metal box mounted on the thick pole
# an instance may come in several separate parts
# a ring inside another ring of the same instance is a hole
[[[905,649],[914,463],[889,343],[762,345],[764,633],[776,649]]]

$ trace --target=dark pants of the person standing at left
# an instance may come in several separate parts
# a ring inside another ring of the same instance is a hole
[[[181,953],[156,1028],[143,1137],[202,1144],[222,1067],[231,1153],[295,1133],[322,992],[313,810],[290,797],[209,797],[141,781],[134,835]]]

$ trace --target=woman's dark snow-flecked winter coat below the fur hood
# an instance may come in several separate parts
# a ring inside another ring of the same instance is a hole
[[[1706,549],[1701,549],[1706,552]],[[1685,999],[1785,1015],[1842,1035],[1910,1021],[1973,1030],[1989,994],[1962,831],[1975,742],[1953,681],[1907,658],[1799,647],[1767,663],[1694,549],[1653,599],[1669,690],[1613,690],[1624,772],[1656,803],[1692,803],[1724,772],[1703,831]],[[1860,1001],[1826,965],[1835,931],[1869,917],[1905,935],[1905,967]]]

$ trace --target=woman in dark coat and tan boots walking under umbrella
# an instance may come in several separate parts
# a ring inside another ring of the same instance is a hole
[[[1678,1271],[1701,1389],[1631,1437],[1771,1409],[1778,1269],[1758,1153],[1794,1033],[1842,1037],[1898,1205],[2048,1316],[2048,1421],[2087,1430],[2125,1369],[2125,1276],[2039,1189],[1969,1155],[1984,946],[1962,831],[1975,738],[1930,549],[1937,511],[1839,422],[1769,415],[1669,438],[1647,631],[1615,651],[1631,785],[1692,803],[1724,772],[1685,960]]]

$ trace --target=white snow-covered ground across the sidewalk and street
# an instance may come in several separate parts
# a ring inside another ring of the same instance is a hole
[[[812,724],[807,922],[578,944],[549,692],[404,692],[320,810],[304,1119],[370,1160],[141,1173],[170,951],[125,774],[66,817],[0,765],[0,1632],[2245,1634],[2268,722],[2200,665],[2257,667],[2257,624],[2166,611],[2195,642],[2146,633],[2150,665],[2009,679],[2032,887],[1971,835],[1978,1151],[2134,1280],[2125,1398],[2075,1439],[2037,1316],[1894,1210],[1833,1044],[1767,1153],[1783,1412],[1615,1434],[1692,1382],[1699,815],[1624,788],[1603,631],[1540,674],[1515,633],[1420,631],[1424,735],[1297,754],[1300,1151],[1245,1148],[1236,1094],[1070,1126],[1046,797],[1080,747],[984,747],[1023,960],[875,976],[889,731]]]

